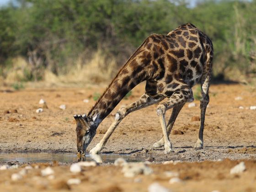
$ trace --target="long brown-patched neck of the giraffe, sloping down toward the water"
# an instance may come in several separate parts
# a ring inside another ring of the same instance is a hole
[[[145,73],[142,68],[134,70],[134,66],[138,64],[133,59],[128,64],[124,65],[118,72],[117,76],[112,80],[110,85],[98,99],[96,104],[91,108],[88,117],[93,118],[98,114],[95,127],[103,121],[107,115],[117,106],[123,97],[133,89],[136,85],[145,80]]]

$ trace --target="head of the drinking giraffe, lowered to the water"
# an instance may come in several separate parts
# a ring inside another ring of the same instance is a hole
[[[77,145],[77,155],[82,156],[85,155],[85,150],[88,145],[91,143],[91,140],[94,138],[96,134],[97,128],[97,117],[98,114],[93,118],[87,117],[85,114],[75,115],[76,121],[76,145]]]

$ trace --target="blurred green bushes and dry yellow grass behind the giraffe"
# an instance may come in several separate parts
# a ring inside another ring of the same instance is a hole
[[[213,75],[256,77],[256,0],[15,0],[0,7],[0,82],[109,81],[152,33],[191,22],[214,45]]]

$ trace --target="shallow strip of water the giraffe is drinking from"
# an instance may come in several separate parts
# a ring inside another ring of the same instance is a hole
[[[101,155],[90,155],[86,154],[84,157],[77,157],[76,154],[72,153],[1,153],[0,161],[19,161],[21,163],[26,162],[64,162],[73,163],[77,161],[91,161],[94,160],[98,163],[114,163],[117,158],[123,158],[128,162],[138,162],[138,157],[132,155],[119,155],[119,154],[101,154]]]

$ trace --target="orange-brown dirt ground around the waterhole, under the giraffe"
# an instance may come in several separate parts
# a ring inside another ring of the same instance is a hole
[[[197,88],[195,87],[193,90],[195,96]],[[25,89],[21,91],[0,89],[0,152],[76,153],[73,115],[89,112],[95,102],[93,95],[103,91],[104,86]],[[97,134],[89,145],[88,151],[106,133],[114,119],[115,112],[122,105],[135,101],[143,93],[144,84],[138,85],[127,100],[118,104],[97,129]],[[235,100],[238,96],[241,97],[241,100]],[[36,109],[42,107],[38,104],[40,99],[47,102],[48,109],[36,113]],[[83,102],[84,99],[89,99],[89,102]],[[198,100],[194,102],[196,107],[189,108],[188,104],[183,107],[170,135],[175,153],[165,155],[164,148],[153,149],[152,147],[162,136],[160,122],[155,112],[156,105],[129,114],[112,134],[102,152],[135,155],[138,156],[138,159],[148,160],[153,164],[160,164],[166,160],[195,162],[177,165],[150,165],[154,174],[142,176],[141,182],[134,182],[134,178],[127,179],[119,176],[121,172],[118,170],[121,168],[114,165],[88,168],[79,175],[82,183],[75,186],[74,189],[89,187],[91,191],[147,191],[150,183],[159,182],[174,191],[255,191],[256,110],[250,110],[249,107],[256,106],[256,89],[240,84],[211,85],[210,103],[205,119],[204,148],[197,151],[193,149],[193,145],[197,140],[200,122],[192,121],[192,117],[200,116],[200,102]],[[66,105],[65,110],[59,109],[61,104]],[[240,106],[244,109],[240,109]],[[171,110],[167,112],[166,117],[170,117],[170,115]],[[242,175],[230,175],[230,168],[238,161],[224,159],[245,160],[246,171]],[[199,163],[200,161],[203,162]],[[2,164],[4,163],[0,162],[0,165]],[[73,177],[71,173],[65,171],[68,169],[67,167],[67,165],[54,166],[53,169],[62,175],[63,179],[64,176],[67,179]],[[182,182],[170,186],[168,184],[170,178],[161,175],[161,171],[167,170],[178,171]],[[16,171],[1,171],[1,177],[3,176],[0,181],[1,189],[8,190],[10,186],[13,187],[13,190],[21,189],[22,185],[24,186],[22,189],[26,191],[26,187],[33,187],[32,181],[28,181],[28,178],[11,185],[13,181],[10,181],[10,176],[13,172]],[[37,173],[33,174],[36,176]],[[23,185],[24,182],[27,185]],[[58,182],[63,181],[60,179]],[[100,185],[101,182],[105,184]],[[59,184],[56,185],[57,188],[53,187],[53,189],[58,189]],[[40,187],[40,185],[38,186]],[[180,188],[181,186],[182,188]],[[202,187],[206,187],[206,190]]]

